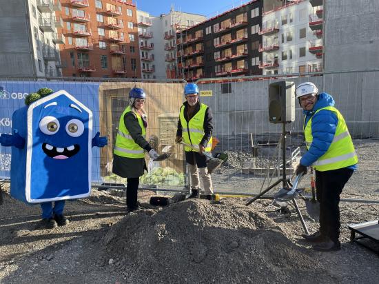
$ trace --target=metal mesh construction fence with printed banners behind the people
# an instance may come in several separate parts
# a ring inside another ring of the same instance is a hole
[[[379,70],[359,72],[324,72],[291,74],[272,77],[230,77],[201,79],[200,100],[213,113],[214,137],[212,150],[228,154],[227,161],[212,173],[216,192],[256,194],[272,183],[283,170],[281,139],[285,139],[285,165],[291,175],[305,151],[303,113],[295,101],[295,121],[282,125],[269,122],[269,84],[292,81],[295,85],[311,81],[320,92],[334,97],[336,108],[345,116],[354,138],[360,168],[352,179],[364,183],[367,194],[378,194],[379,101],[376,85]],[[92,150],[92,181],[94,186],[124,185],[125,179],[112,174],[112,152],[119,118],[128,105],[127,94],[134,86],[147,94],[147,141],[161,152],[169,145],[172,155],[167,161],[153,162],[146,156],[149,173],[141,177],[141,186],[155,190],[181,191],[188,183],[183,146],[174,142],[179,108],[185,101],[182,80],[80,79],[64,78],[45,81],[33,78],[0,79],[0,133],[12,131],[12,113],[24,106],[27,94],[47,87],[65,90],[93,112],[93,135],[99,131],[107,136],[105,148]],[[283,138],[284,137],[284,138]],[[0,147],[0,178],[10,176],[10,148]],[[307,187],[307,180],[304,181]],[[355,183],[353,183],[354,185]]]

